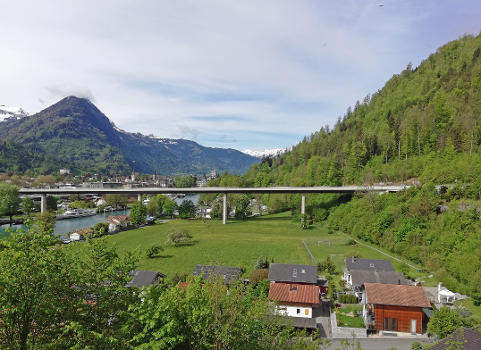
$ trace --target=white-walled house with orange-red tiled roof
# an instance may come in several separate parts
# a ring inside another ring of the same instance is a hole
[[[276,302],[275,313],[286,316],[295,327],[316,328],[312,309],[319,307],[319,287],[312,284],[271,283],[269,300]],[[299,321],[299,319],[304,319]]]

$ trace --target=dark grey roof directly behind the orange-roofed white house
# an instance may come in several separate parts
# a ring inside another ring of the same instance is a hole
[[[267,279],[271,284],[273,282],[317,284],[317,266],[272,263]]]

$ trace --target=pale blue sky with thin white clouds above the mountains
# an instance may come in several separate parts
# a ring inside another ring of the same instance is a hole
[[[0,104],[75,95],[117,127],[289,148],[409,62],[481,30],[479,0],[0,0]]]

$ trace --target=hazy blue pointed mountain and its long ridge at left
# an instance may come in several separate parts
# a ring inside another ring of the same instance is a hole
[[[243,173],[258,161],[234,149],[203,147],[118,129],[89,100],[66,97],[43,111],[1,122],[0,139],[66,162],[74,171],[103,174]],[[1,169],[0,169],[1,170]]]

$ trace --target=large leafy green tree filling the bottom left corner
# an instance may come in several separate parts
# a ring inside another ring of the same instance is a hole
[[[76,313],[78,299],[72,288],[63,249],[52,249],[51,235],[13,232],[0,249],[0,347],[44,349],[61,338],[62,320]]]

